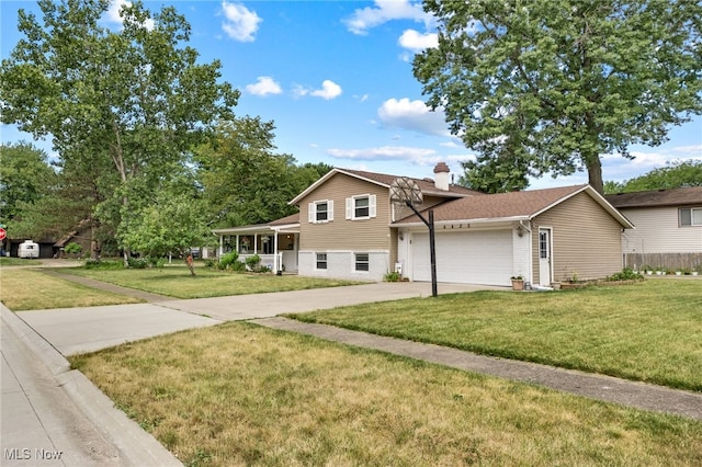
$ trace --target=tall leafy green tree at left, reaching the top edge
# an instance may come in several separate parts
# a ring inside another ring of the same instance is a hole
[[[98,213],[128,231],[122,224],[139,220],[145,195],[178,173],[220,119],[234,118],[239,93],[218,82],[218,60],[197,64],[197,52],[183,45],[190,25],[171,7],[151,13],[125,3],[122,27],[111,31],[100,23],[109,0],[38,4],[43,22],[20,9],[24,38],[0,68],[2,122],[52,135],[61,163],[109,167],[120,208]]]

